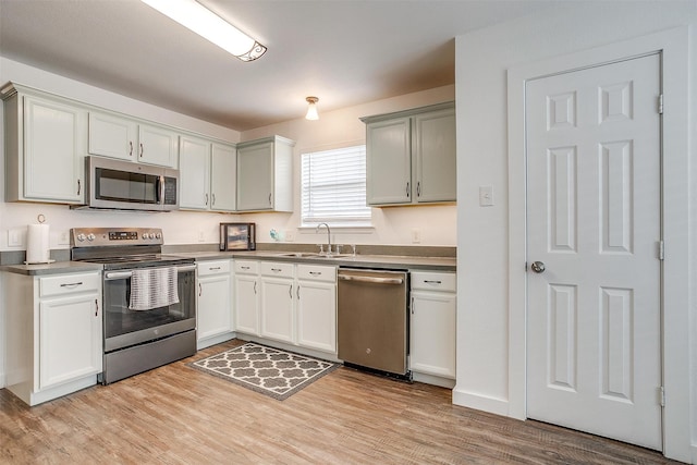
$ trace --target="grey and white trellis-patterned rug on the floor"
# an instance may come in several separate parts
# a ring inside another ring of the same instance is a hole
[[[339,367],[252,342],[188,365],[279,401]]]

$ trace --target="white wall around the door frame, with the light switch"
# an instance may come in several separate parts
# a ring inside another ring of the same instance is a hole
[[[515,331],[509,327],[509,271],[510,267],[516,265],[509,264],[511,230],[506,70],[681,25],[693,28],[697,25],[697,2],[559,2],[545,12],[457,37],[458,307],[457,384],[453,392],[455,403],[512,415],[519,406],[511,405],[511,397],[517,397],[515,402],[521,399],[524,402],[525,399],[524,389],[521,389],[523,392],[510,392],[512,380],[509,377],[510,370],[517,367],[511,367],[509,359],[510,333]],[[694,30],[689,46],[689,82],[694,90],[697,76]],[[687,99],[688,95],[682,97]],[[685,125],[685,132],[692,132],[694,140],[697,130],[694,123],[697,115],[694,94],[689,108],[692,123],[684,121],[680,124]],[[692,164],[689,176],[693,195],[677,201],[690,208],[689,243],[695,244],[696,207],[689,203],[690,197],[695,198],[695,164]],[[480,185],[493,186],[494,207],[479,207]],[[695,282],[695,248],[680,250],[677,254],[689,254],[688,282]],[[690,400],[683,407],[685,412],[692,412],[689,421],[693,445],[690,448],[690,441],[686,439],[667,452],[682,461],[692,460],[697,463],[697,303],[694,289],[692,292],[684,291],[685,295],[680,297],[683,305],[671,310],[689,311],[692,345],[683,347],[687,353],[682,356],[692,360],[689,372],[683,374],[683,386],[690,386],[688,383],[692,382],[692,388],[689,393],[672,394],[677,397],[689,394]],[[685,438],[688,437],[686,433]],[[667,440],[668,442],[671,440]]]

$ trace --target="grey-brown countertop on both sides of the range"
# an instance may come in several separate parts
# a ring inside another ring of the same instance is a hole
[[[250,259],[250,260],[272,260],[293,261],[313,265],[333,265],[356,268],[391,268],[408,269],[409,271],[455,271],[456,260],[454,257],[423,257],[423,256],[399,256],[399,255],[341,255],[338,257],[313,257],[296,256],[293,252],[280,250],[253,250],[253,252],[220,252],[220,250],[198,250],[198,252],[174,252],[182,257],[194,258],[196,261],[220,260],[220,259]],[[99,271],[103,267],[100,264],[88,264],[84,261],[56,261],[53,264],[40,265],[4,265],[0,271],[26,276],[44,276],[59,273],[77,273],[85,271]]]

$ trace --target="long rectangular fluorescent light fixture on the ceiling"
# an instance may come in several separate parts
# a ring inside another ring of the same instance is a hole
[[[253,61],[266,53],[266,47],[195,0],[140,1],[242,61]]]

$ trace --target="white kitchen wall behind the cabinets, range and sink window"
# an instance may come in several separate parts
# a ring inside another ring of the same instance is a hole
[[[185,114],[155,107],[118,94],[69,79],[46,71],[0,57],[0,84],[15,82],[63,97],[72,98],[93,106],[169,124],[187,131],[197,132],[232,143],[242,139],[236,131],[200,121]],[[365,125],[359,117],[404,110],[454,99],[454,86],[386,99],[345,110],[321,113],[321,119],[308,122],[302,118],[283,124],[249,131],[244,140],[273,134],[283,135],[297,142],[295,146],[295,210],[299,210],[299,154],[303,150],[316,150],[348,144],[365,144]],[[320,106],[321,112],[321,106]],[[0,112],[0,127],[3,115]],[[0,131],[0,147],[4,154],[4,134]],[[4,158],[2,159],[4,160]],[[4,200],[4,162],[0,163],[0,200]],[[419,245],[454,246],[455,206],[394,207],[374,209],[374,229],[360,232],[340,233],[333,231],[334,243],[342,244],[412,244],[412,229],[420,230]],[[174,211],[152,212],[107,212],[90,210],[70,210],[64,205],[4,203],[0,201],[0,250],[24,250],[25,246],[8,245],[9,231],[19,230],[24,234],[26,225],[37,222],[42,213],[50,225],[50,247],[69,248],[61,243],[62,233],[71,228],[81,227],[156,227],[162,228],[166,244],[217,244],[218,224],[221,221],[255,221],[259,225],[258,241],[272,242],[270,229],[291,232],[296,243],[316,244],[325,242],[322,234],[315,235],[314,229],[297,229],[299,217],[291,213],[219,215],[205,212]],[[200,238],[203,235],[203,238]],[[2,354],[2,331],[4,311],[0,306],[0,388],[4,386],[4,364]]]

